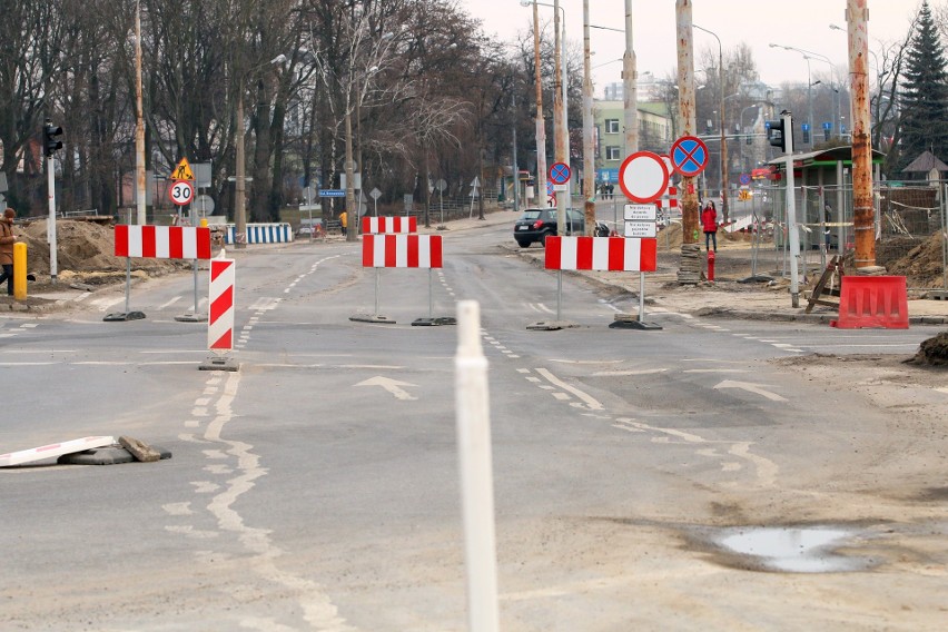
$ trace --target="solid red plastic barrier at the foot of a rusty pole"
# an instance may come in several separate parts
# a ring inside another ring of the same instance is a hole
[[[833,320],[830,325],[841,329],[908,329],[906,277],[842,277],[839,320]]]

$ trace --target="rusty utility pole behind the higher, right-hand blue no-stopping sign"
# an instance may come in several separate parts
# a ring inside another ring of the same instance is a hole
[[[693,136],[694,112],[694,42],[691,29],[691,0],[675,0],[678,40],[678,108],[681,135]],[[697,284],[701,278],[701,246],[698,244],[698,190],[694,176],[682,178],[681,260],[678,280]]]

